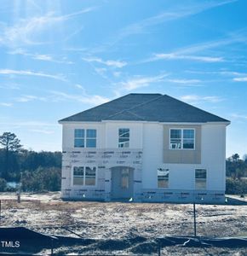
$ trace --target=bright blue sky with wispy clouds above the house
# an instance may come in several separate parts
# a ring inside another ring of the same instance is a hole
[[[247,153],[246,0],[2,0],[0,133],[60,150],[65,118],[131,92],[230,119]]]

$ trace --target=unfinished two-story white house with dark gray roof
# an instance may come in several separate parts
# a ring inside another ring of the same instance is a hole
[[[224,201],[227,119],[129,94],[59,123],[63,199]]]

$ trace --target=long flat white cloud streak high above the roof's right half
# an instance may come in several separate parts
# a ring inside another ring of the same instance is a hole
[[[188,61],[203,61],[203,62],[221,62],[224,61],[221,57],[198,56],[198,55],[179,55],[176,53],[155,54],[148,61],[158,60],[188,60]]]

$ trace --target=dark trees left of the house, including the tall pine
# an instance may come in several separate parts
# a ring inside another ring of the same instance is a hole
[[[27,150],[11,132],[0,136],[0,147],[0,191],[11,190],[9,182],[25,191],[60,190],[60,152]]]

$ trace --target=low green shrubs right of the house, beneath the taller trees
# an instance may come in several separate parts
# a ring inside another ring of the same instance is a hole
[[[227,178],[226,194],[231,194],[231,195],[247,194],[247,180]]]

